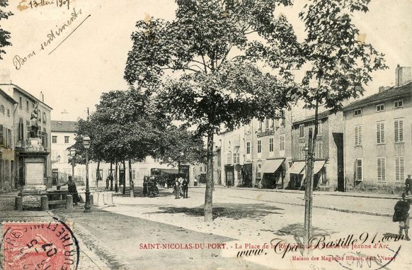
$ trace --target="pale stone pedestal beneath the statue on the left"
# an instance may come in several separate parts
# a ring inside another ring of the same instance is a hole
[[[45,164],[48,152],[41,145],[40,138],[30,138],[24,158],[24,186],[18,195],[23,199],[24,208],[39,208],[41,197],[46,195]]]

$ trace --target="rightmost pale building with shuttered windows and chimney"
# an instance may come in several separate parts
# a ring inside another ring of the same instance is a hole
[[[348,191],[401,192],[411,174],[411,68],[398,66],[395,81],[343,110]]]

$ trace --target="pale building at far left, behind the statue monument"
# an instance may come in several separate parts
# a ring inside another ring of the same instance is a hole
[[[37,99],[35,96],[25,91],[15,84],[0,84],[0,89],[7,94],[14,103],[13,108],[6,108],[6,125],[8,125],[7,136],[8,144],[13,147],[14,153],[8,150],[8,157],[14,154],[14,160],[10,158],[5,161],[6,169],[4,174],[8,174],[7,178],[11,180],[11,188],[16,189],[24,186],[24,157],[26,152],[26,145],[30,137],[30,118],[35,106],[38,106],[38,137],[42,139],[42,145],[46,152],[50,152],[50,112],[52,108],[47,106],[43,97]],[[8,109],[10,109],[10,116],[8,116]],[[5,135],[4,135],[5,138]],[[45,158],[45,184],[52,179],[52,168],[50,155]],[[10,181],[9,181],[10,182]]]

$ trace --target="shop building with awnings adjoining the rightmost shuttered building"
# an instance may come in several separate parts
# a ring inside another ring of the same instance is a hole
[[[306,186],[306,159],[309,129],[314,133],[314,116],[293,122],[293,164],[287,171],[290,181],[285,188]],[[318,115],[318,135],[314,149],[314,189],[344,191],[343,113],[324,111]]]

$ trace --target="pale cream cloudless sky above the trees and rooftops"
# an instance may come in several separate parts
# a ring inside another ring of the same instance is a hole
[[[37,8],[32,1],[33,9],[29,2],[8,0],[7,10],[14,15],[2,20],[1,27],[11,32],[13,45],[4,48],[0,72],[34,96],[42,92],[53,108],[52,120],[85,118],[103,92],[127,89],[123,72],[136,21],[148,16],[171,20],[176,10],[170,0],[49,0],[53,4]],[[277,11],[287,16],[301,40],[304,29],[297,13],[307,2],[295,0],[292,8]],[[389,69],[372,74],[366,96],[379,86],[394,85],[396,64],[412,66],[412,0],[372,0],[369,7],[354,22],[365,41],[386,55]],[[52,31],[59,35],[52,37]]]

